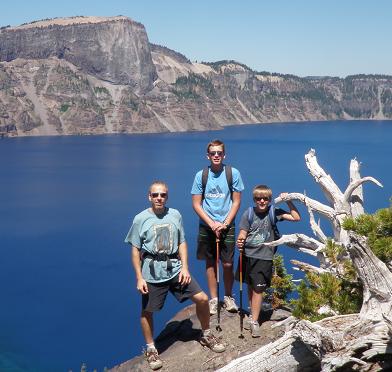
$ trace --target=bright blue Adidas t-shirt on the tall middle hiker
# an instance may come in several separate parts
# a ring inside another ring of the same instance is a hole
[[[192,195],[203,194],[202,174],[203,170],[196,173],[191,190]],[[236,168],[232,168],[232,174],[233,191],[241,192],[244,189],[241,174]],[[218,173],[212,172],[210,168],[202,208],[214,221],[223,222],[229,214],[232,204],[226,179],[226,167],[223,167],[223,170]],[[205,225],[202,220],[200,223]]]

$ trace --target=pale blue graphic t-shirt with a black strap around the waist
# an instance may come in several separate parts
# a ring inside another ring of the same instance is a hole
[[[125,242],[138,248],[143,253],[167,255],[178,252],[178,246],[185,241],[182,217],[178,210],[166,208],[157,216],[151,209],[145,209],[135,216],[132,226],[125,237]],[[149,283],[161,283],[174,278],[181,271],[181,260],[170,258],[171,270],[167,261],[142,260],[142,276]]]

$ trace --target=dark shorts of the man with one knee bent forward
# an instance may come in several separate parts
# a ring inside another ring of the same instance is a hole
[[[179,302],[184,302],[195,294],[202,292],[199,283],[192,278],[191,282],[182,286],[178,275],[163,283],[148,283],[148,293],[142,295],[142,310],[154,312],[162,309],[167,292],[171,292]]]

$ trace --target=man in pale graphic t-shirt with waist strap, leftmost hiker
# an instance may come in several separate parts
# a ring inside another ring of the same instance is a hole
[[[132,264],[137,289],[142,294],[141,327],[151,369],[162,367],[153,339],[153,312],[163,307],[170,291],[179,302],[191,299],[202,328],[200,343],[220,353],[225,346],[210,330],[208,297],[188,270],[188,253],[181,214],[167,208],[168,187],[153,182],[148,199],[151,207],[135,216],[125,242],[132,245]]]

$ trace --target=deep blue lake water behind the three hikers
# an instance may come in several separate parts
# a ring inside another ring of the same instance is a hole
[[[243,211],[258,183],[306,192],[325,201],[309,176],[304,155],[316,149],[321,166],[341,189],[349,162],[362,162],[365,207],[389,205],[392,190],[392,122],[360,121],[237,126],[217,132],[0,140],[0,370],[89,371],[112,367],[144,346],[140,298],[123,243],[133,216],[148,206],[152,180],[165,180],[169,206],[183,214],[193,275],[207,288],[195,259],[197,218],[190,188],[207,164],[205,146],[227,146],[226,163],[242,173]],[[298,203],[297,203],[298,204]],[[282,233],[311,234],[303,221]],[[328,226],[325,226],[326,229]],[[280,248],[289,272],[293,257]],[[300,274],[294,272],[295,277]],[[238,288],[235,288],[238,298]],[[158,335],[181,308],[168,298],[156,314]]]

